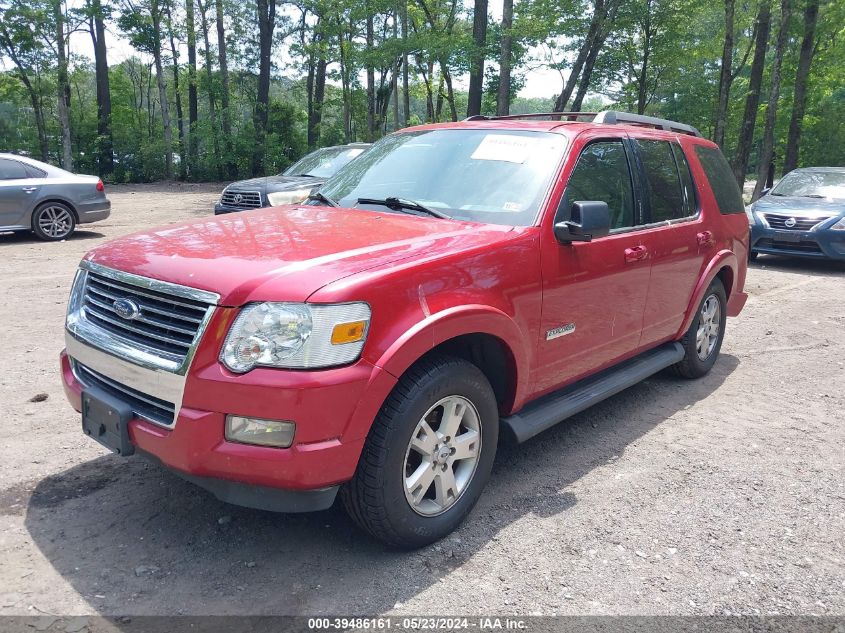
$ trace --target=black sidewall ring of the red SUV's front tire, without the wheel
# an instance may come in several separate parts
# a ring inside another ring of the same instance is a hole
[[[399,407],[398,424],[385,460],[384,505],[395,532],[410,545],[438,540],[460,525],[472,510],[490,478],[499,435],[499,412],[490,384],[474,365],[450,363],[434,380],[417,385],[414,396]],[[428,409],[451,395],[463,396],[475,406],[481,420],[481,456],[468,487],[446,512],[433,517],[416,513],[405,498],[405,454],[411,434]]]

